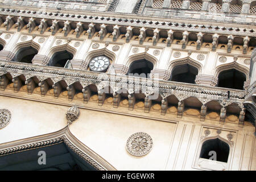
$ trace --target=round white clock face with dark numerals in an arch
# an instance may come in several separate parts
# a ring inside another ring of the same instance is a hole
[[[104,72],[108,69],[110,61],[106,56],[97,56],[90,61],[89,68],[94,72]]]

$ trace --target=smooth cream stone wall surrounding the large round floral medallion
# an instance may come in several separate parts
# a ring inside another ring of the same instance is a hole
[[[72,102],[51,98],[55,104],[49,104],[46,98],[41,102],[40,97],[31,98],[36,101],[14,97],[0,96],[0,109],[8,109],[12,114],[9,125],[0,129],[0,147],[6,142],[53,133],[67,126],[65,113]],[[25,92],[23,97],[26,98]],[[221,125],[210,119],[200,122],[199,118],[188,115],[178,119],[172,114],[114,109],[94,102],[81,104],[75,100],[73,104],[79,105],[80,116],[69,126],[71,133],[118,170],[205,169],[204,165],[198,166],[197,155],[206,129],[210,130],[207,137],[216,137],[218,129],[225,140],[227,134],[233,134],[226,170],[256,169],[255,128],[249,123],[238,127],[237,123]],[[147,133],[153,141],[152,150],[141,157],[126,151],[127,139],[137,132]]]

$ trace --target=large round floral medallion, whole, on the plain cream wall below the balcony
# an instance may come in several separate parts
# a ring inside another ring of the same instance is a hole
[[[152,138],[146,133],[135,133],[126,142],[126,149],[131,155],[142,156],[152,149]]]

